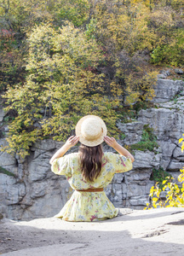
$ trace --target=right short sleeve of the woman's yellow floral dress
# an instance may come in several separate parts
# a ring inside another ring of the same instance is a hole
[[[115,173],[128,172],[132,169],[132,161],[130,157],[121,154],[113,154]]]

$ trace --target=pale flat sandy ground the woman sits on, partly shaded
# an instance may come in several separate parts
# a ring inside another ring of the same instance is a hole
[[[184,255],[184,208],[121,209],[123,216],[74,223],[58,218],[0,222],[6,256]]]

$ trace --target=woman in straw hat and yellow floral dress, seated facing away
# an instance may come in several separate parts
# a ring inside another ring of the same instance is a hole
[[[82,143],[79,152],[66,154],[78,141]],[[103,141],[119,154],[103,153]],[[84,116],[76,125],[76,136],[69,137],[50,160],[52,172],[65,175],[75,189],[71,199],[55,217],[66,221],[116,217],[118,209],[108,200],[103,188],[111,183],[115,173],[131,170],[133,161],[134,157],[128,150],[113,137],[106,136],[106,125],[100,117]]]

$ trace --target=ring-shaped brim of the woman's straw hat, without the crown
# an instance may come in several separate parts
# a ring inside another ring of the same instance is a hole
[[[89,119],[89,118],[95,118],[96,122],[100,122],[101,123],[101,128],[102,128],[102,133],[101,136],[98,137],[95,140],[87,140],[86,138],[83,137],[82,133],[81,133],[81,125],[83,124],[83,121],[85,119]],[[82,143],[83,145],[86,145],[88,147],[95,147],[100,145],[101,143],[103,143],[104,141],[104,136],[106,136],[106,124],[104,123],[104,121],[96,115],[85,115],[82,119],[79,119],[78,124],[76,125],[76,135],[79,137],[79,142]]]

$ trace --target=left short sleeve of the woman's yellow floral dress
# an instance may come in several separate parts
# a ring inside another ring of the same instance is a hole
[[[58,175],[71,176],[70,154],[55,159],[52,163],[51,171]]]

